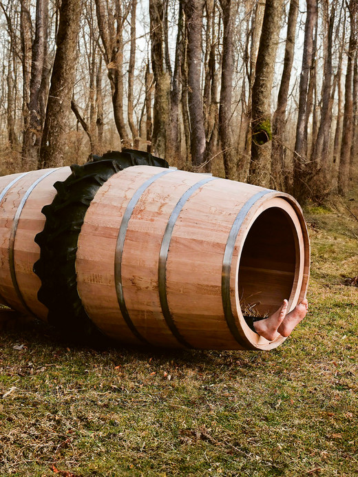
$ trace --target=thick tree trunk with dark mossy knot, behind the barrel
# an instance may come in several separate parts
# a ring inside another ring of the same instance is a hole
[[[282,0],[266,0],[252,93],[252,141],[249,182],[269,187],[271,182],[271,91]]]

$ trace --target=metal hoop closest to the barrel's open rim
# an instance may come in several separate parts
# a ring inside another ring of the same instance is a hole
[[[227,245],[224,251],[224,259],[222,260],[222,277],[221,277],[221,293],[222,293],[222,306],[224,308],[225,319],[227,320],[227,326],[231,334],[238,343],[242,346],[246,346],[238,327],[235,323],[235,317],[233,316],[233,310],[231,308],[231,297],[230,297],[230,275],[231,275],[231,260],[233,259],[233,251],[235,248],[235,242],[240,232],[242,223],[244,222],[246,215],[249,213],[251,207],[260,200],[267,193],[273,192],[271,189],[264,189],[255,193],[249,200],[247,200],[238,215],[236,215],[233,225],[231,226],[231,231],[227,239]]]

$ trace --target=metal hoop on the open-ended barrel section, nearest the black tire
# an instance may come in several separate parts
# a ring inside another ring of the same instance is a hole
[[[145,337],[140,335],[136,326],[134,326],[133,321],[131,321],[131,317],[129,316],[129,312],[127,310],[127,306],[125,304],[125,297],[123,294],[123,282],[122,282],[122,256],[123,256],[123,247],[125,244],[125,235],[127,234],[129,220],[131,218],[131,214],[134,211],[134,207],[140,200],[140,197],[143,195],[143,192],[151,185],[155,180],[158,178],[165,176],[166,174],[176,172],[175,170],[165,169],[155,176],[147,179],[143,184],[136,190],[133,194],[131,200],[127,205],[127,209],[125,209],[125,213],[123,214],[122,222],[120,222],[120,227],[118,231],[117,243],[116,243],[116,259],[114,262],[114,278],[116,282],[116,292],[117,292],[117,299],[118,305],[120,308],[120,312],[122,313],[123,319],[125,320],[128,328],[134,334],[136,338],[142,341],[145,344],[150,344]]]

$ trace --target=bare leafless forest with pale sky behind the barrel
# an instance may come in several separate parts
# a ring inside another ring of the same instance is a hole
[[[358,162],[355,0],[1,0],[3,173],[132,147],[321,204]]]

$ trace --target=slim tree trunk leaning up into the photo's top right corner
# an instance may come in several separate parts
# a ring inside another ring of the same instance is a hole
[[[355,50],[357,48],[356,37],[356,14],[357,4],[355,0],[350,0],[350,37],[347,52],[346,85],[344,89],[344,116],[343,116],[343,136],[341,141],[341,159],[339,162],[338,191],[341,195],[346,195],[348,191],[348,181],[350,174],[350,148],[352,147],[352,113],[353,113],[353,72]]]

